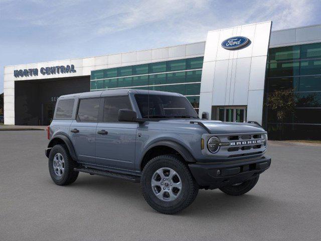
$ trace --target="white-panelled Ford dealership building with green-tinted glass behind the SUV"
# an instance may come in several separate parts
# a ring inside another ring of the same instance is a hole
[[[182,93],[200,116],[255,121],[272,138],[319,139],[321,25],[272,32],[271,25],[210,31],[197,43],[5,66],[5,124],[50,124],[60,95],[132,88]],[[269,104],[275,91],[294,99],[282,120]]]

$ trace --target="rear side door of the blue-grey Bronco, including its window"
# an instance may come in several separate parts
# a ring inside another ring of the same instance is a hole
[[[95,163],[95,138],[101,99],[79,99],[76,119],[70,126],[69,132],[77,158],[83,163]]]

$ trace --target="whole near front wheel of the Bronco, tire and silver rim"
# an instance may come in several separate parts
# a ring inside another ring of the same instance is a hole
[[[142,171],[140,182],[147,203],[165,214],[188,207],[199,190],[186,164],[175,155],[151,159]]]

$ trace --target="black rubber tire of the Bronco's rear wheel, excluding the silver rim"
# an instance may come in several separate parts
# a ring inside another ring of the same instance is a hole
[[[64,173],[62,176],[58,176],[53,167],[53,160],[57,153],[60,153],[64,158]],[[76,181],[79,172],[74,171],[75,161],[72,160],[71,156],[69,155],[69,151],[65,145],[55,145],[49,154],[49,173],[51,179],[57,185],[63,186],[68,185]]]

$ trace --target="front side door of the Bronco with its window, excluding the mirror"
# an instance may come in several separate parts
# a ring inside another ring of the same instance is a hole
[[[128,96],[104,98],[102,122],[96,128],[96,163],[134,170],[138,124],[118,122],[119,109],[132,109]]]

